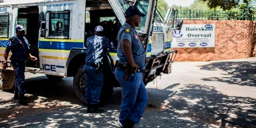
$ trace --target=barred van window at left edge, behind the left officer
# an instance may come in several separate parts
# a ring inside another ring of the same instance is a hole
[[[0,37],[8,37],[9,30],[9,14],[0,14]]]

